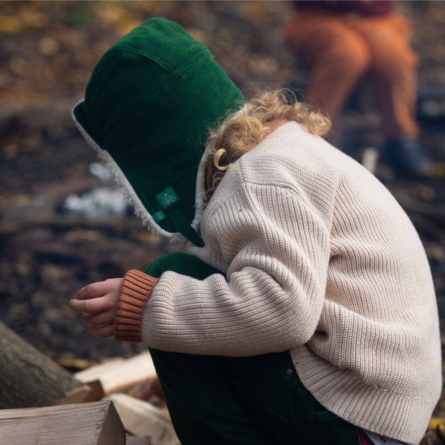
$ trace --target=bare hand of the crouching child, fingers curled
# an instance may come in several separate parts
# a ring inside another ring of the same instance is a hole
[[[69,300],[74,312],[83,313],[83,321],[92,325],[89,333],[95,337],[114,335],[114,319],[123,278],[112,278],[89,284],[77,292],[77,299]],[[97,328],[97,326],[102,326]]]

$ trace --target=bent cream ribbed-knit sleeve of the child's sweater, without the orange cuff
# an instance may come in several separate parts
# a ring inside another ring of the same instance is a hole
[[[165,272],[146,305],[142,342],[193,354],[249,356],[304,344],[324,301],[329,231],[303,198],[225,178],[206,244],[230,264],[227,280]],[[227,180],[226,180],[227,179]]]

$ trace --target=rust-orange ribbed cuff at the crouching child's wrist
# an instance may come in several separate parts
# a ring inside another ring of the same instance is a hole
[[[142,316],[158,278],[140,271],[128,271],[117,303],[114,340],[140,343]]]

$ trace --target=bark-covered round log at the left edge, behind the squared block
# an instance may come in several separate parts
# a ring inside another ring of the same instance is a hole
[[[91,389],[0,322],[0,409],[85,401]]]

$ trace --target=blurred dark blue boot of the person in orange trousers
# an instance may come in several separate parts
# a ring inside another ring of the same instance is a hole
[[[390,165],[401,174],[422,178],[445,176],[444,164],[432,162],[415,138],[387,141],[384,151]]]

